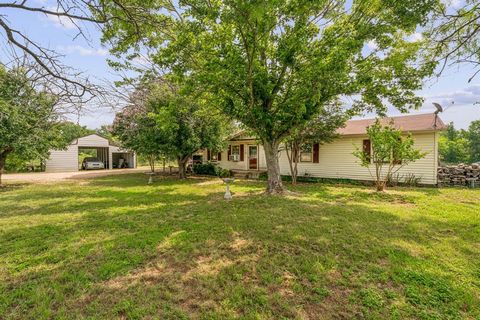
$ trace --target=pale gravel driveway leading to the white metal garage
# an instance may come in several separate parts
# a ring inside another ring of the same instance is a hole
[[[127,174],[134,172],[146,172],[148,168],[136,169],[115,169],[115,170],[92,170],[76,172],[31,172],[31,173],[9,173],[3,174],[3,181],[15,182],[52,182],[69,179],[89,179],[116,174]]]

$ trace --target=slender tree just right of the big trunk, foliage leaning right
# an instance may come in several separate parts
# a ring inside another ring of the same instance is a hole
[[[300,154],[305,145],[324,144],[334,140],[338,134],[336,130],[345,124],[347,113],[342,112],[339,104],[334,104],[305,124],[302,129],[295,130],[284,143],[287,154],[292,184],[297,183],[298,163]]]

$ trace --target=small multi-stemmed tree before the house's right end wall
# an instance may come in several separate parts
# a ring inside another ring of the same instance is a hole
[[[414,141],[409,134],[403,136],[391,122],[383,126],[380,120],[367,128],[370,139],[370,150],[357,148],[353,153],[361,161],[361,166],[368,169],[375,181],[377,191],[385,189],[388,177],[394,175],[407,164],[423,158],[426,153],[414,147]],[[374,173],[371,167],[374,167]]]

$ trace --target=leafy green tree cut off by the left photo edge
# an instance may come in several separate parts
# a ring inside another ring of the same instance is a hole
[[[54,97],[38,92],[22,69],[0,65],[0,186],[9,155],[43,159],[50,149],[65,147],[54,106]]]

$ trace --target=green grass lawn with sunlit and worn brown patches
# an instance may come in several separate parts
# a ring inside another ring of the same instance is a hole
[[[143,174],[0,190],[0,319],[479,319],[480,190]]]

